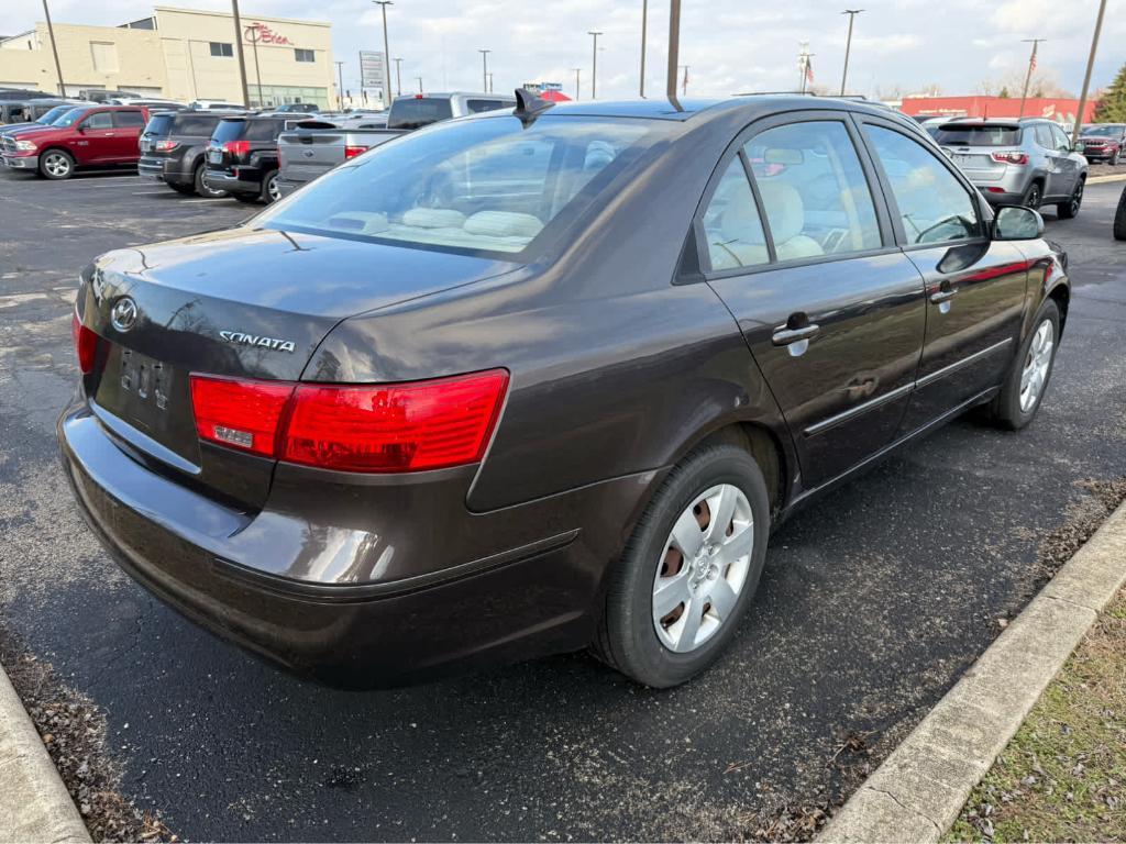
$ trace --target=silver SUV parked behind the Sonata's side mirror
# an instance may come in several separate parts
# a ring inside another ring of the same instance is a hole
[[[959,120],[938,128],[935,141],[991,205],[1055,205],[1079,214],[1087,159],[1052,120]]]

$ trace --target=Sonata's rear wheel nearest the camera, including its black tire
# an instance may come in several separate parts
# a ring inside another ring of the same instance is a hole
[[[735,635],[770,532],[766,481],[736,446],[706,446],[664,479],[608,574],[595,652],[644,685],[679,685]]]

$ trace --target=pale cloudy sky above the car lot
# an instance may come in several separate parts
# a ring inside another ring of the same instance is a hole
[[[151,0],[50,0],[61,23],[117,25],[151,14]],[[0,27],[15,34],[43,19],[39,0],[6,0]],[[12,8],[12,5],[15,8]],[[162,0],[166,6],[229,10],[229,0]],[[938,86],[954,96],[1019,92],[1028,62],[1022,38],[1043,37],[1038,69],[1076,95],[1098,0],[866,0],[857,16],[849,91],[912,93]],[[682,0],[680,64],[689,96],[793,90],[799,44],[808,42],[814,84],[839,90],[844,60],[846,6],[856,0]],[[664,90],[668,0],[649,3],[646,93]],[[328,20],[333,60],[347,62],[345,88],[358,86],[358,51],[382,50],[378,7],[365,0],[241,0],[254,15]],[[592,38],[600,30],[598,98],[638,91],[642,0],[395,0],[387,9],[392,56],[401,56],[404,90],[480,90],[481,54],[491,50],[494,90],[556,81],[590,97]],[[1108,84],[1126,62],[1126,0],[1109,0],[1092,89]],[[680,74],[682,79],[682,73]]]

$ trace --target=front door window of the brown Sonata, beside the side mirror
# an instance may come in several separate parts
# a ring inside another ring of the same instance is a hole
[[[930,151],[892,129],[866,125],[864,131],[891,182],[908,243],[946,243],[981,233],[973,197]]]

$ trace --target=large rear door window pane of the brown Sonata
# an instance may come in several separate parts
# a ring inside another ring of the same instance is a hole
[[[743,150],[779,261],[883,245],[872,191],[844,124],[778,126]]]

